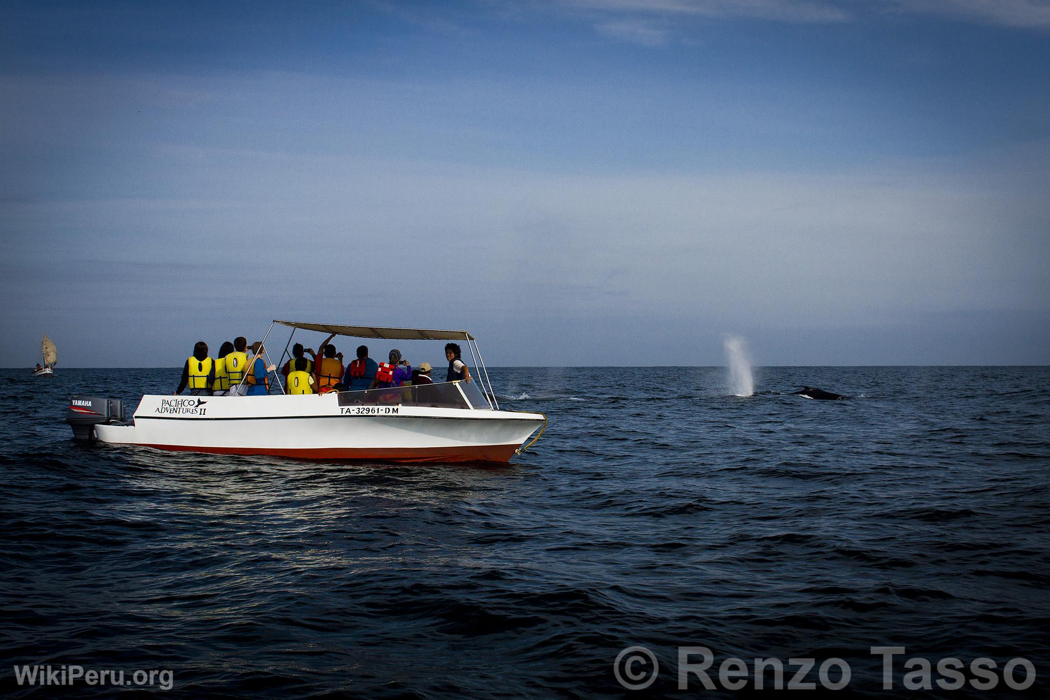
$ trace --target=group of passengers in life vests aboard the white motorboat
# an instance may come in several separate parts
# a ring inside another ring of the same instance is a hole
[[[248,352],[251,352],[249,356]],[[224,342],[218,357],[208,357],[208,344],[203,340],[193,346],[193,355],[183,366],[183,377],[175,395],[189,388],[191,396],[265,396],[270,393],[269,374],[275,365],[267,366],[261,342],[248,344],[243,336],[232,343]],[[307,355],[312,357],[308,358]],[[357,359],[343,366],[342,353],[326,342],[320,354],[301,343],[292,346],[292,357],[280,368],[288,386],[288,394],[328,394],[331,391],[363,391],[391,386],[419,386],[433,384],[430,364],[420,363],[418,368],[392,349],[388,362],[376,362],[369,357],[366,345],[357,348]],[[457,343],[445,345],[448,360],[446,382],[470,381],[470,369],[463,362]]]

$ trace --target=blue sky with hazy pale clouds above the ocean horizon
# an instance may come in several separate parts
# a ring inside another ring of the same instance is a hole
[[[1050,2],[4,15],[2,366],[272,318],[494,365],[1050,363]]]

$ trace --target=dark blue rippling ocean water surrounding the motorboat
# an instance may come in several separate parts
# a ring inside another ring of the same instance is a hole
[[[911,695],[1047,695],[1050,368],[757,368],[748,398],[721,367],[490,374],[550,418],[504,466],[84,445],[69,396],[133,407],[178,372],[0,372],[0,692],[112,695],[14,673],[76,664],[171,673],[120,697],[685,697],[677,649],[706,646],[716,683],[728,657],[838,657],[877,697],[896,645],[895,693],[915,656],[1000,680]],[[638,693],[632,645],[659,664]]]

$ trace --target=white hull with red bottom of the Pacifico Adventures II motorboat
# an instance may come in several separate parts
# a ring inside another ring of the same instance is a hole
[[[316,460],[506,462],[541,413],[339,405],[324,396],[145,396],[132,425],[96,425],[106,443]]]

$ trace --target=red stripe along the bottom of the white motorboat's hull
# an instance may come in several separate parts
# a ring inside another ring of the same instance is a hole
[[[134,443],[132,443],[134,444]],[[374,460],[381,462],[509,462],[517,445],[470,445],[464,447],[317,447],[280,449],[271,447],[195,447],[190,445],[142,445],[155,449],[209,454],[262,454],[299,460]]]

